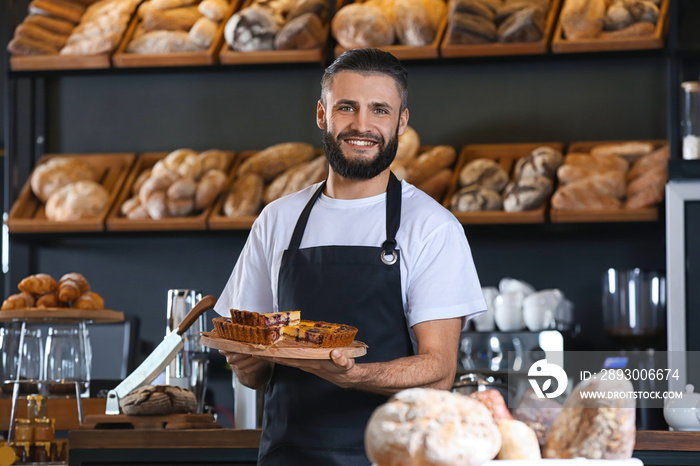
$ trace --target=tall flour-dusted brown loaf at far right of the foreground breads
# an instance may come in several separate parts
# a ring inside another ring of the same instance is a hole
[[[547,433],[542,456],[630,458],[636,434],[633,390],[626,379],[595,377],[577,384]]]

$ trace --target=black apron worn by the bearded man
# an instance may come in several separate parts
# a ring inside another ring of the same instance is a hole
[[[320,246],[299,249],[311,208],[304,208],[279,274],[279,311],[300,310],[302,319],[357,327],[367,343],[358,363],[413,354],[401,299],[396,232],[401,222],[401,182],[387,187],[387,240],[381,247]],[[276,364],[265,391],[259,465],[369,465],[364,430],[385,395],[342,389],[315,375]]]

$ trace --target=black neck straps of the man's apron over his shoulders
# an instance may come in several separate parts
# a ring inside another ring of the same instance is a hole
[[[301,238],[304,236],[304,230],[306,229],[306,223],[309,221],[309,215],[311,215],[311,209],[325,188],[326,182],[324,181],[301,212],[294,227],[292,239],[289,241],[289,249],[299,249]],[[401,224],[401,182],[392,172],[389,172],[389,183],[386,193],[386,241],[384,241],[382,248],[384,249],[384,254],[393,255],[396,249],[396,232],[399,231],[399,225]]]

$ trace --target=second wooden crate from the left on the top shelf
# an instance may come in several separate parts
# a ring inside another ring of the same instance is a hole
[[[160,66],[201,66],[214,65],[218,61],[219,49],[224,42],[224,26],[238,7],[240,0],[230,0],[230,5],[224,19],[221,20],[216,31],[214,41],[209,48],[202,52],[178,52],[178,53],[127,53],[126,48],[136,31],[140,20],[134,16],[126,31],[125,38],[112,56],[112,65],[117,68],[148,68]]]

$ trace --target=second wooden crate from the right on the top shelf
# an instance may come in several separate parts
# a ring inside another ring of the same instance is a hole
[[[545,19],[542,39],[537,42],[492,42],[489,44],[451,44],[446,33],[440,45],[440,56],[443,58],[460,57],[489,57],[502,55],[537,55],[549,51],[552,33],[557,22],[562,0],[552,0]]]

